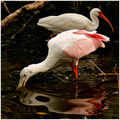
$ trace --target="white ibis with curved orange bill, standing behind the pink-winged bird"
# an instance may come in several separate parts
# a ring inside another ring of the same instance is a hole
[[[65,13],[59,16],[48,16],[40,18],[37,25],[45,27],[46,29],[52,31],[54,34],[58,34],[71,29],[94,31],[99,26],[98,17],[101,17],[106,22],[108,22],[112,28],[112,31],[114,32],[112,24],[98,8],[93,8],[90,11],[90,18],[92,21],[80,14]]]

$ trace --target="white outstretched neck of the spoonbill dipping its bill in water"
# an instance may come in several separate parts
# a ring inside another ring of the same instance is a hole
[[[40,63],[29,65],[28,69],[31,71],[33,76],[37,73],[48,71],[56,64],[56,62],[56,59],[51,59],[50,57],[47,57],[44,61]]]

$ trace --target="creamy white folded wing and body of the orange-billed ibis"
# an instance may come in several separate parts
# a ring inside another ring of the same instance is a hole
[[[90,20],[83,15],[66,13],[59,16],[41,18],[37,25],[58,34],[70,29],[88,29],[87,23],[91,24]]]

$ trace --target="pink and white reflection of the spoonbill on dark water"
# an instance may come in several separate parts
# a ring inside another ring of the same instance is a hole
[[[101,92],[100,92],[101,89]],[[92,91],[91,91],[92,90]],[[92,93],[92,97],[80,96],[80,90],[76,87],[75,98],[68,98],[65,96],[57,96],[54,93],[39,93],[33,92],[26,88],[21,89],[20,101],[25,105],[30,106],[46,106],[50,112],[61,114],[76,114],[76,115],[93,115],[99,114],[100,110],[107,109],[104,105],[105,91],[103,87],[92,87],[87,89],[88,94]],[[99,92],[99,97],[97,92]],[[97,97],[93,97],[97,96]],[[99,112],[95,112],[99,110]]]

